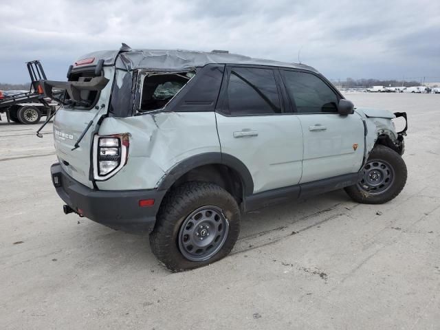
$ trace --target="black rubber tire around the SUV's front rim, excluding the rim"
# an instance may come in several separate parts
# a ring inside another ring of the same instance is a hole
[[[398,153],[393,151],[393,149],[378,144],[371,151],[369,159],[366,162],[366,166],[367,164],[373,164],[375,161],[382,161],[387,166],[390,166],[391,170],[393,171],[393,180],[386,190],[377,193],[365,190],[362,188],[362,184],[355,184],[345,188],[345,191],[351,197],[351,199],[357,201],[358,203],[386,203],[399,195],[406,184],[406,178],[408,176],[406,164],[404,159],[402,159]],[[364,166],[364,170],[366,166]]]

